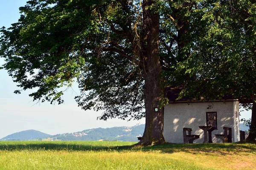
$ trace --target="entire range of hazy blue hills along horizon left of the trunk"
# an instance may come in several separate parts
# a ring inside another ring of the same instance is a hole
[[[111,127],[111,128],[95,128],[87,129],[74,133],[63,133],[57,135],[49,135],[37,130],[25,130],[18,133],[8,135],[0,141],[21,141],[21,140],[36,140],[42,138],[43,140],[62,140],[62,141],[135,141],[137,136],[142,136],[145,125],[135,125],[132,127]]]

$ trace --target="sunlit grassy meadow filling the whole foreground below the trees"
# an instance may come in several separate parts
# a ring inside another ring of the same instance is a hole
[[[0,170],[256,170],[256,144],[0,142]]]

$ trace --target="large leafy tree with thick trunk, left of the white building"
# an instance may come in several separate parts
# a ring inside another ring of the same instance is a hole
[[[30,0],[19,21],[1,29],[3,68],[42,102],[62,103],[61,87],[77,80],[82,109],[104,110],[100,119],[145,116],[140,144],[162,144],[164,87],[178,82],[180,63],[203,54],[215,2]]]

